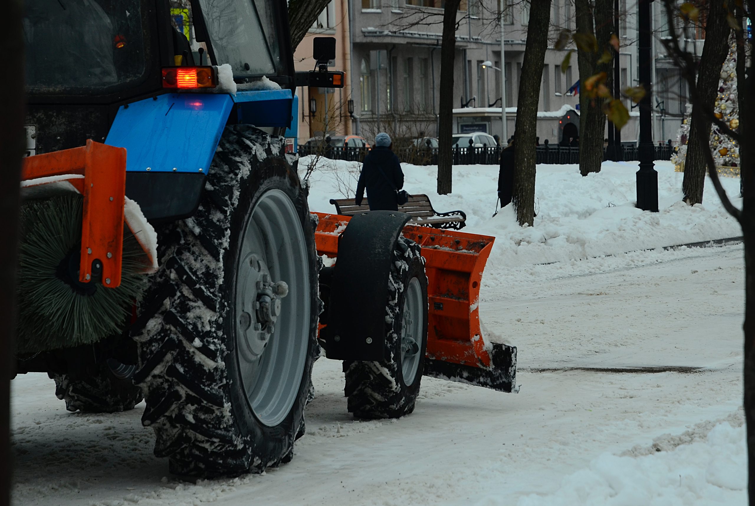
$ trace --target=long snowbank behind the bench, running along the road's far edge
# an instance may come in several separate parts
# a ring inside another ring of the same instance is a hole
[[[404,188],[411,194],[430,197],[436,211],[462,210],[467,227],[462,232],[495,236],[485,270],[485,284],[496,284],[495,271],[519,265],[566,262],[635,250],[738,237],[741,228],[721,206],[709,179],[704,204],[690,207],[683,202],[683,173],[668,161],[657,161],[660,213],[634,207],[636,162],[604,162],[599,173],[583,177],[575,164],[538,165],[535,184],[535,225],[520,227],[512,206],[495,210],[498,166],[454,167],[453,190],[438,195],[437,167],[402,164]],[[313,170],[312,170],[313,169]],[[332,213],[331,198],[353,197],[360,164],[349,161],[299,161],[304,177],[312,170],[310,210]],[[739,179],[723,178],[735,205],[741,206]]]

